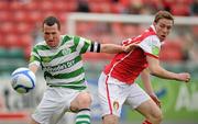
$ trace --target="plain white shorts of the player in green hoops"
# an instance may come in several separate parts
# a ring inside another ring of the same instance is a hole
[[[67,88],[47,88],[41,103],[32,114],[32,119],[41,124],[52,123],[54,116],[57,119],[62,112],[69,111],[70,102],[80,92]]]

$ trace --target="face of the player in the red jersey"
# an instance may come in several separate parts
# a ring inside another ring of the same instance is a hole
[[[158,20],[158,22],[154,22],[154,26],[158,38],[161,40],[161,42],[163,42],[173,27],[173,21],[167,19],[161,19]]]

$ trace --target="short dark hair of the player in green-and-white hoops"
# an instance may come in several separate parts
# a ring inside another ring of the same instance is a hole
[[[55,23],[57,24],[58,30],[61,30],[59,20],[58,20],[57,18],[55,18],[55,16],[47,16],[47,18],[45,18],[45,20],[43,21],[43,26],[44,26],[44,24],[46,24],[46,25],[48,25],[48,26],[52,26],[52,25],[54,25]]]

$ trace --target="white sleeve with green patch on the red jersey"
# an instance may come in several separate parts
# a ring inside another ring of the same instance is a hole
[[[156,35],[152,35],[139,43],[139,46],[145,52],[145,55],[158,58],[161,42]]]

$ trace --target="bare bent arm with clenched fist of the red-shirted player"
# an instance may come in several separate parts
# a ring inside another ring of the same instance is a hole
[[[190,75],[188,72],[175,74],[161,67],[158,59],[151,56],[146,56],[146,59],[148,63],[148,69],[151,74],[154,76],[157,76],[164,79],[172,79],[172,80],[178,80],[178,81],[185,81],[185,82],[188,82],[190,80]]]

